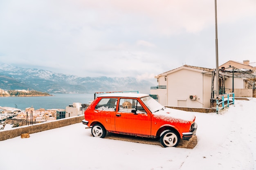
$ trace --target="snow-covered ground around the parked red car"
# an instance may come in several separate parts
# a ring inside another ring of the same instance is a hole
[[[162,148],[91,136],[82,123],[0,141],[0,170],[254,170],[256,98],[194,113],[198,144]]]

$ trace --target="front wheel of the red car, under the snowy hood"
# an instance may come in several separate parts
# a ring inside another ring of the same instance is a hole
[[[164,147],[175,147],[179,141],[179,136],[172,130],[164,130],[160,135],[160,142]]]

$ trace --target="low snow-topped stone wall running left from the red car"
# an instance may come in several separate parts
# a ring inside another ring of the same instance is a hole
[[[69,117],[65,119],[58,119],[55,121],[48,121],[39,124],[29,125],[29,126],[19,126],[11,130],[0,130],[0,141],[11,139],[20,136],[22,133],[36,133],[42,132],[44,130],[50,130],[54,128],[60,128],[63,126],[68,126],[76,123],[82,123],[84,115],[79,115],[75,117]]]

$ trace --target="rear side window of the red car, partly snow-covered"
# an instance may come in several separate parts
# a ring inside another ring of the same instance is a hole
[[[102,98],[95,106],[95,110],[116,111],[117,98]]]

